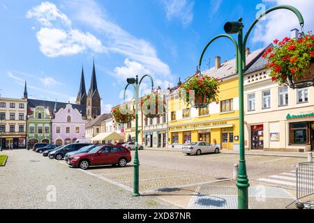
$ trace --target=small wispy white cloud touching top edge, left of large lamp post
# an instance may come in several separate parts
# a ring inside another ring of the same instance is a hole
[[[187,0],[162,0],[165,6],[167,20],[177,19],[183,26],[188,26],[193,21],[194,1]]]

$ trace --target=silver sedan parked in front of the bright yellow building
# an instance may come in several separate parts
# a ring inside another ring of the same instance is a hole
[[[186,155],[195,154],[201,155],[202,153],[220,153],[219,144],[209,144],[206,141],[197,141],[186,144],[182,147],[182,152]]]

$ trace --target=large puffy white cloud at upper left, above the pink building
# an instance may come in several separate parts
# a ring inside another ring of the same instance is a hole
[[[40,51],[46,56],[66,56],[85,52],[106,52],[105,47],[91,33],[72,29],[68,17],[50,2],[43,2],[27,12],[27,18],[35,18],[40,24],[36,33]],[[33,29],[33,28],[32,28]]]

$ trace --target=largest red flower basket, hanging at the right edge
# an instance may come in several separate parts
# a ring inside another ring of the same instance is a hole
[[[273,82],[292,89],[314,86],[314,35],[311,32],[299,39],[274,40],[274,47],[267,49],[262,57],[268,60]]]

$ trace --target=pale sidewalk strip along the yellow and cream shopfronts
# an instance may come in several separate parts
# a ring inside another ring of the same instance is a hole
[[[181,152],[179,148],[148,148],[145,147],[144,150],[147,151],[171,151],[171,152]],[[239,154],[239,151],[221,151],[224,154]],[[246,151],[246,155],[265,155],[265,156],[278,156],[278,157],[308,157],[308,152],[298,153],[298,152],[276,152],[276,151]]]

